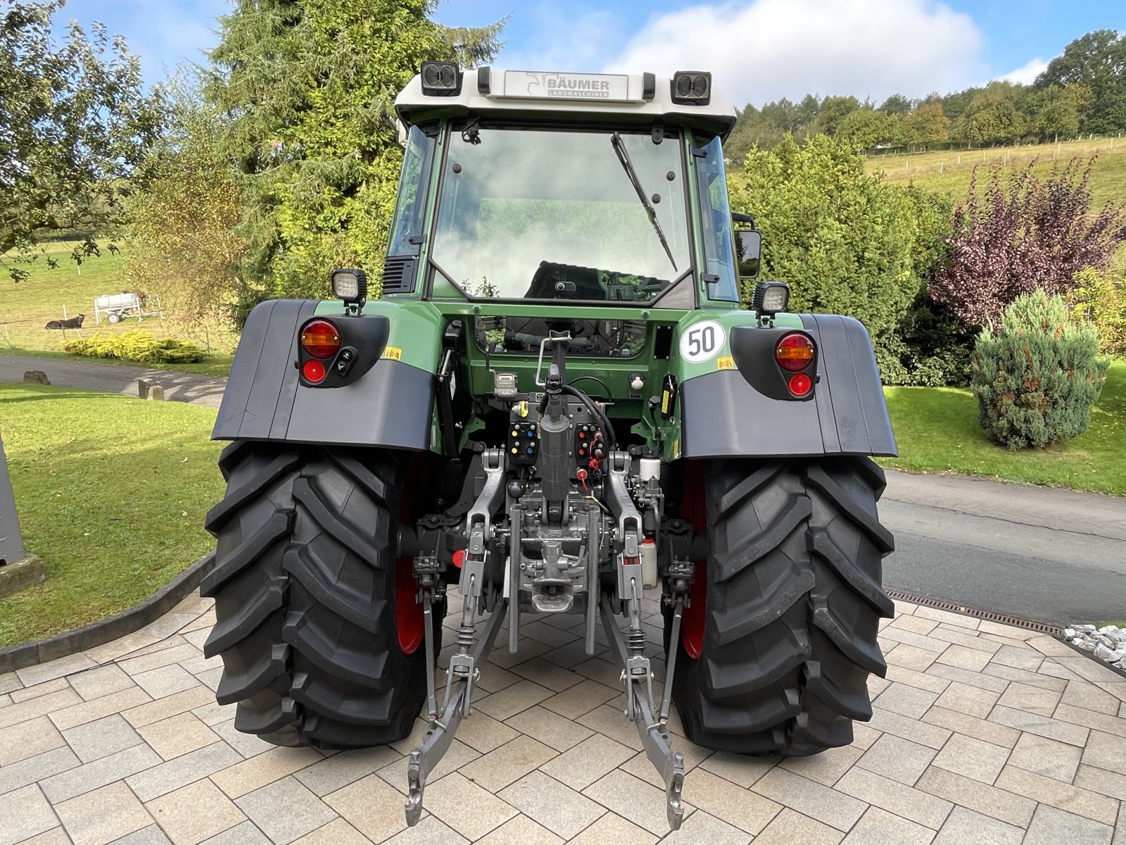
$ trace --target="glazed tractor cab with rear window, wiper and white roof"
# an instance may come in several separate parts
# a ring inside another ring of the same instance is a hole
[[[709,73],[461,71],[395,100],[405,157],[385,296],[650,309],[739,300]]]

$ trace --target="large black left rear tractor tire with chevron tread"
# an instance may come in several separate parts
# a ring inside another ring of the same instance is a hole
[[[431,667],[421,611],[402,592],[413,573],[405,568],[406,585],[396,560],[408,457],[242,441],[223,450],[227,491],[207,516],[215,568],[200,587],[216,614],[204,653],[223,656],[216,699],[238,704],[240,731],[322,748],[410,732]],[[436,605],[438,648],[444,615]]]

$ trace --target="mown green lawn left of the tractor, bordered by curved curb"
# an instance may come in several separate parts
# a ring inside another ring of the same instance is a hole
[[[0,646],[119,613],[212,548],[214,420],[182,402],[0,382],[24,541],[47,564],[44,584],[0,599]]]

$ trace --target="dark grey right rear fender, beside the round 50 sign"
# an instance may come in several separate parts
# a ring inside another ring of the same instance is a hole
[[[736,368],[681,385],[685,457],[899,454],[867,330],[851,317],[799,317],[817,348],[813,397],[768,395],[776,393],[767,386],[777,377],[772,357],[751,361],[740,349],[753,339],[747,335],[741,340],[742,332],[768,330],[735,327],[731,346]]]

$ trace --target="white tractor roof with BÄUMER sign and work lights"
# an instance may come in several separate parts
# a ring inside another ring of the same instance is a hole
[[[694,77],[703,77],[690,72]],[[637,123],[697,126],[726,135],[735,109],[712,88],[705,103],[673,100],[673,80],[652,73],[556,73],[477,68],[458,73],[454,91],[425,89],[415,75],[395,98],[406,124],[430,117],[558,117],[563,122]],[[708,79],[711,86],[711,79]]]

